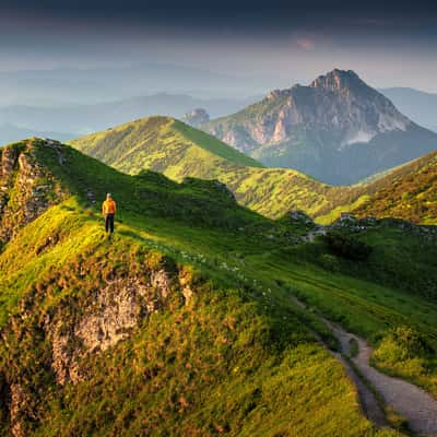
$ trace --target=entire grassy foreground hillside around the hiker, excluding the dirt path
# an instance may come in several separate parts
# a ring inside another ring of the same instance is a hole
[[[434,234],[362,226],[373,253],[357,262],[214,182],[128,176],[37,139],[1,153],[2,435],[400,435],[363,415],[342,362],[312,335],[335,347],[319,311],[437,395],[434,352],[395,365],[387,352],[405,324],[437,347]],[[99,216],[108,190],[113,238]],[[29,213],[4,220],[14,211]]]

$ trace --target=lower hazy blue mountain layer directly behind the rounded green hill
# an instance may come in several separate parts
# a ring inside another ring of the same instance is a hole
[[[184,118],[198,107],[205,108],[212,117],[218,117],[256,99],[194,98],[182,94],[158,93],[94,105],[3,106],[0,107],[0,142],[7,144],[28,137],[49,137],[64,141],[157,114]],[[16,126],[25,128],[20,130]],[[45,131],[50,132],[52,127],[56,127],[57,132],[46,134]]]

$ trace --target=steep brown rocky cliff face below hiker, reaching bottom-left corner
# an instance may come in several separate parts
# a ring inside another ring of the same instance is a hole
[[[4,347],[11,347],[9,366],[0,369],[0,394],[13,437],[32,434],[44,410],[35,383],[52,381],[57,390],[62,390],[69,383],[86,381],[90,359],[138,333],[151,315],[191,304],[194,291],[190,270],[177,268],[164,256],[151,265],[147,256],[143,253],[142,263],[134,269],[118,259],[121,270],[108,267],[104,275],[95,269],[101,258],[83,259],[72,270],[52,272],[22,299],[20,311],[0,332]],[[71,292],[78,276],[86,276],[90,284]],[[46,299],[59,293],[68,297],[47,307]],[[32,351],[25,343],[31,335]],[[29,361],[32,353],[35,355]]]

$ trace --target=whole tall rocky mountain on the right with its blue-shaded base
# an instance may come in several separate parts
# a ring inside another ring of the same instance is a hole
[[[275,90],[202,128],[268,166],[349,184],[437,147],[437,134],[403,116],[353,71]]]

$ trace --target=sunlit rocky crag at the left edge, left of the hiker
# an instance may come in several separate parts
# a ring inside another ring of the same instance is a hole
[[[56,147],[62,162],[61,145]],[[32,140],[0,150],[0,244],[64,197],[55,176],[39,164]]]

